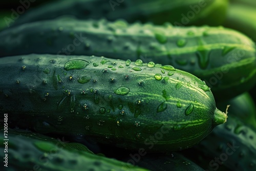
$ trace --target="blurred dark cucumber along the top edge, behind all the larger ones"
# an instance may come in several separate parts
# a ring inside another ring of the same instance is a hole
[[[53,19],[61,15],[73,15],[79,19],[108,20],[126,19],[133,23],[153,22],[163,24],[171,22],[179,26],[211,25],[223,23],[228,7],[228,0],[190,0],[190,1],[116,1],[116,0],[76,0],[57,1],[30,10],[11,22],[13,26],[39,20]]]

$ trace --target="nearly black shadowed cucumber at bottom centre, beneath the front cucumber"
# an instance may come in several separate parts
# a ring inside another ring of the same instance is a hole
[[[143,154],[143,153],[142,153]],[[134,155],[135,156],[135,155]],[[134,157],[133,156],[133,157]],[[137,156],[136,156],[137,157]],[[204,170],[200,166],[198,166],[193,161],[187,159],[183,155],[179,153],[173,152],[170,155],[155,155],[155,154],[145,154],[145,156],[141,156],[141,158],[135,158],[137,161],[136,165],[147,168],[155,171],[165,171],[165,170],[191,170],[191,171],[199,171]],[[131,162],[134,164],[134,159],[126,158],[124,162]]]

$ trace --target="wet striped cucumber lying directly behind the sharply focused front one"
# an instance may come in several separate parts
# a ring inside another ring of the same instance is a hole
[[[56,19],[3,31],[0,39],[1,56],[96,55],[172,65],[204,80],[218,100],[248,91],[256,82],[255,45],[230,29]]]

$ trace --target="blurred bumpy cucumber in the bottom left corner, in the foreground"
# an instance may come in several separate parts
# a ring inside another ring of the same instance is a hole
[[[8,131],[8,139],[1,139],[0,156],[6,161],[5,155],[8,154],[8,164],[2,163],[1,170],[147,170],[88,152],[62,148],[57,143],[23,132],[17,135]],[[4,153],[6,145],[8,152]]]

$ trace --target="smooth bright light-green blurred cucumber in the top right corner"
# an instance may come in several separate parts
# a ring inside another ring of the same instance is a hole
[[[230,4],[227,12],[227,18],[224,22],[224,26],[238,30],[254,42],[256,41],[256,3],[251,1],[254,5],[245,5],[240,3]]]

